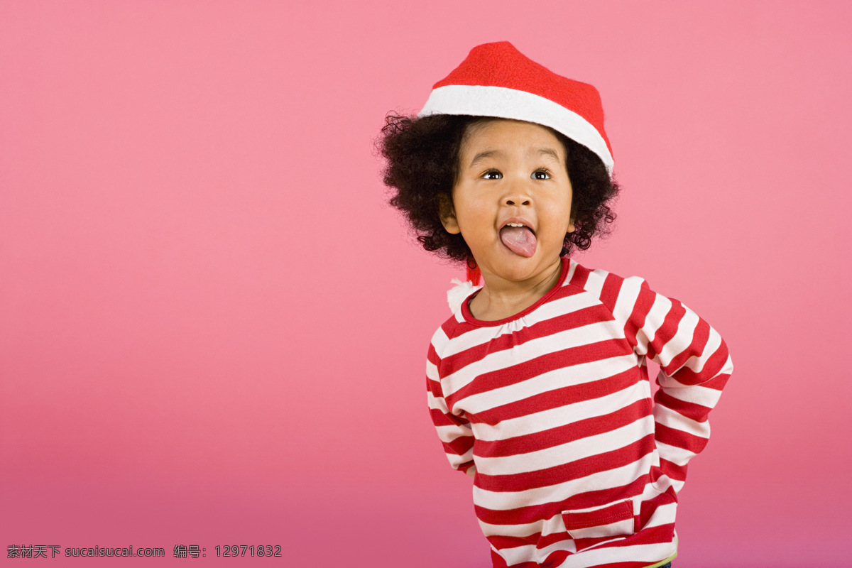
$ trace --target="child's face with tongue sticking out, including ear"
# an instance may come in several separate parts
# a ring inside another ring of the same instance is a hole
[[[520,282],[553,271],[574,230],[571,198],[565,148],[550,130],[489,120],[465,133],[441,221],[462,233],[486,285],[489,277]]]

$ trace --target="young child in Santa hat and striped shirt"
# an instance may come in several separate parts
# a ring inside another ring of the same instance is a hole
[[[568,257],[613,221],[619,189],[596,89],[487,43],[416,118],[389,116],[383,154],[423,247],[484,280],[435,332],[426,374],[493,565],[669,565],[676,491],[732,366],[679,301]]]

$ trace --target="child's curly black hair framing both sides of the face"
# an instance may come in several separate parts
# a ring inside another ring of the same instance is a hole
[[[452,261],[475,267],[473,255],[461,234],[446,232],[440,222],[440,202],[449,198],[458,175],[463,138],[471,124],[493,118],[435,114],[414,118],[389,113],[377,146],[387,160],[384,183],[391,190],[389,203],[405,213],[423,248]],[[615,220],[610,208],[619,185],[610,178],[601,158],[587,147],[550,129],[565,147],[571,180],[574,232],[565,235],[562,255],[586,250],[595,235],[606,234]]]

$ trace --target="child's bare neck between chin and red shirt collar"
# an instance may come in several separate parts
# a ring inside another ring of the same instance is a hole
[[[470,301],[470,313],[477,319],[494,321],[514,316],[532,306],[559,281],[562,259],[533,278],[521,281],[505,280],[492,274],[482,274],[484,285]]]

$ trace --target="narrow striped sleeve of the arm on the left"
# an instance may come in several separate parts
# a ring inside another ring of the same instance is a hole
[[[470,468],[475,468],[474,434],[470,428],[470,422],[460,416],[452,414],[447,408],[444,393],[440,387],[439,376],[440,359],[435,352],[434,346],[429,346],[429,356],[426,360],[426,390],[429,400],[429,414],[438,438],[444,445],[446,458],[454,469],[467,473]]]

